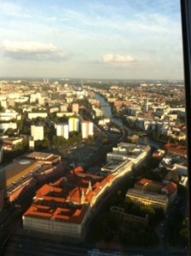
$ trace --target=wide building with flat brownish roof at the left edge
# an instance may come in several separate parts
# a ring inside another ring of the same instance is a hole
[[[61,156],[33,152],[19,160],[14,160],[0,169],[0,189],[5,201],[15,201],[36,189],[37,183],[58,177],[64,171],[59,166]]]

